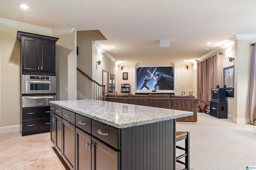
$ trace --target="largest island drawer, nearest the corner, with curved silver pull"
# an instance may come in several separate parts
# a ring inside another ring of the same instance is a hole
[[[92,120],[92,135],[116,149],[121,149],[121,129]]]

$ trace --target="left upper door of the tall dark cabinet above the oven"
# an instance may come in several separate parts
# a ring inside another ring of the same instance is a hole
[[[22,71],[39,71],[40,40],[28,37],[21,39]]]

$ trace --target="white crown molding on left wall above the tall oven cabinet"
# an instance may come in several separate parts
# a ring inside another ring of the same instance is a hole
[[[41,27],[38,25],[32,25],[29,23],[24,23],[24,22],[19,22],[14,20],[8,20],[5,18],[0,18],[0,25],[6,25],[9,27],[16,27],[20,29],[27,29],[31,31],[40,32],[40,33],[52,34],[52,29],[50,28]]]

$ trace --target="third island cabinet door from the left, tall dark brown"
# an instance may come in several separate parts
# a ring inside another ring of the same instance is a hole
[[[62,119],[62,142],[63,142],[63,149],[62,149],[62,158],[68,164],[68,167],[72,170],[75,168],[75,141],[76,141],[76,134],[75,134],[75,126]]]

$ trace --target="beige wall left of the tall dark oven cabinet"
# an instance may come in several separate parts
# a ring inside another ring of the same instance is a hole
[[[17,31],[38,32],[0,25],[0,127],[11,126],[20,129],[20,42],[17,39]]]

